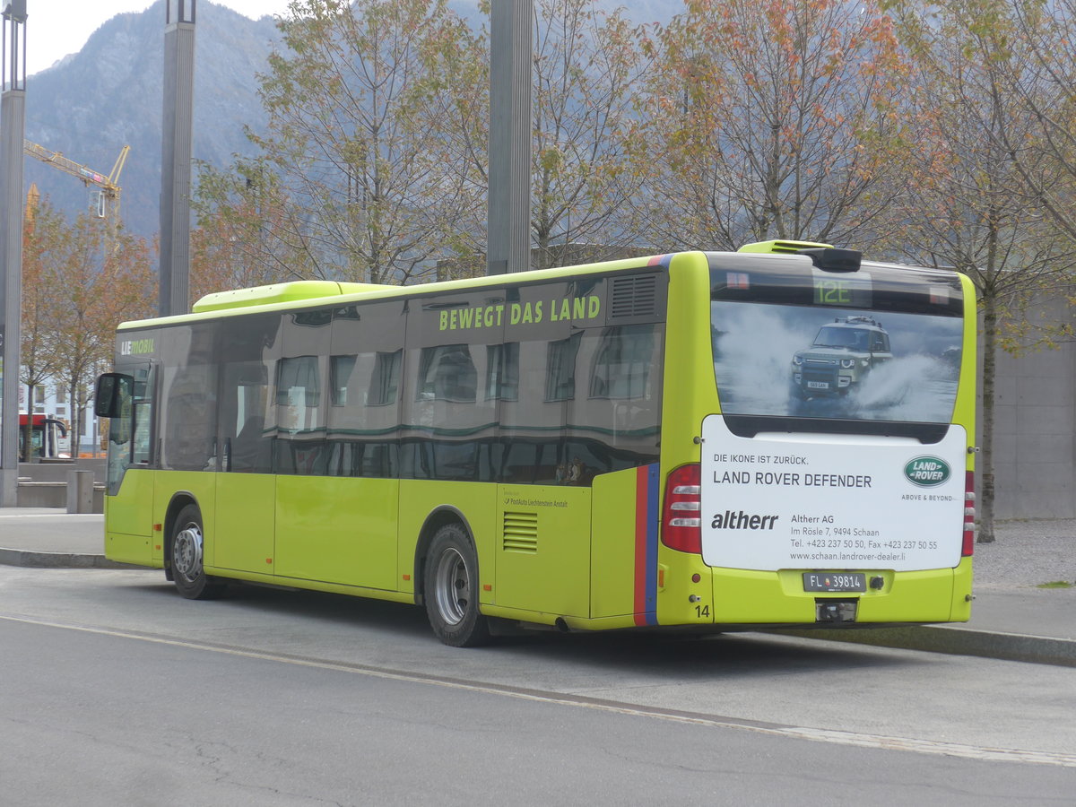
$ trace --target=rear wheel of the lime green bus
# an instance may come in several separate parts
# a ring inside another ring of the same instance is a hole
[[[490,640],[490,623],[478,610],[478,558],[463,526],[445,524],[434,535],[423,580],[437,638],[454,648]]]

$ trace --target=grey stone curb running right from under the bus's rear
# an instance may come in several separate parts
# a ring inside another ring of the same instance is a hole
[[[925,650],[931,653],[975,655],[1002,661],[1052,664],[1076,667],[1076,639],[1047,636],[992,633],[967,627],[915,625],[879,627],[863,631],[779,629],[766,633],[798,636],[804,639],[875,645],[903,650]]]

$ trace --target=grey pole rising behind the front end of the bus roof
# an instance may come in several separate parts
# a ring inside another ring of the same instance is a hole
[[[195,105],[195,0],[165,2],[165,98],[161,109],[161,316],[189,312],[190,154]]]

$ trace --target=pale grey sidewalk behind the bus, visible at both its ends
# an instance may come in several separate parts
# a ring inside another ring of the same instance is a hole
[[[104,557],[104,516],[52,508],[0,509],[0,564],[136,568]],[[975,547],[969,622],[872,631],[780,633],[912,650],[1076,666],[1076,520],[1001,524]],[[1067,582],[1071,587],[1040,589]]]

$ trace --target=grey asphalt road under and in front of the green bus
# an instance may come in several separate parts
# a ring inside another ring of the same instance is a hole
[[[1076,671],[748,634],[461,651],[420,609],[0,568],[0,802],[1071,803]]]

